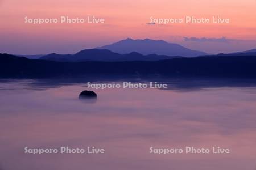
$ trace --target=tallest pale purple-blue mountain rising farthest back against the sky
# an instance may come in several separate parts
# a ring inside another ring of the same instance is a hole
[[[141,53],[143,55],[158,54],[165,56],[183,56],[183,57],[197,57],[203,56],[207,53],[197,50],[191,50],[179,44],[168,43],[163,40],[133,40],[126,39],[115,42],[114,44],[101,46],[97,49],[108,49],[119,54],[129,54],[131,52]]]

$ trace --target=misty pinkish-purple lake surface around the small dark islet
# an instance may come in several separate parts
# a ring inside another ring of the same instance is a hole
[[[163,80],[168,90],[94,90],[84,82],[1,80],[0,169],[256,169],[256,87]],[[104,148],[105,154],[25,154]],[[229,148],[230,154],[150,154],[154,148]]]

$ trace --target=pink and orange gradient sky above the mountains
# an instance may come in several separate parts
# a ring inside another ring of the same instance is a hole
[[[208,53],[256,48],[255,0],[0,0],[1,53],[75,53],[131,37],[162,39]],[[103,24],[28,24],[28,18],[104,18]],[[230,23],[148,25],[154,18],[229,18]],[[184,41],[183,37],[226,37],[227,42]]]

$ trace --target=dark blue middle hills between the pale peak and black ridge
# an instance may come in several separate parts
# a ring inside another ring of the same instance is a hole
[[[177,56],[160,56],[156,54],[142,55],[137,52],[129,54],[118,54],[106,49],[85,49],[76,54],[48,54],[40,59],[61,62],[82,61],[157,61],[161,59],[172,59]]]

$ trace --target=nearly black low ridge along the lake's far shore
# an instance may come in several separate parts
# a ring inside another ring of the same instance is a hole
[[[158,75],[256,78],[256,56],[174,58],[162,61],[55,62],[0,54],[0,78],[79,75]]]

